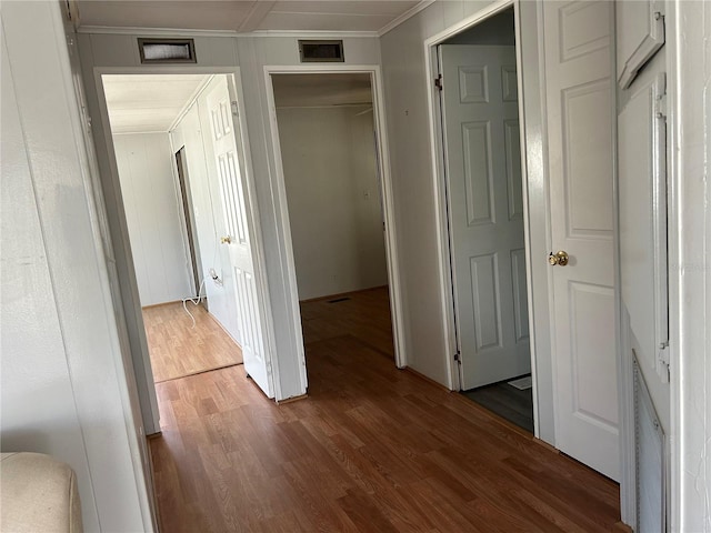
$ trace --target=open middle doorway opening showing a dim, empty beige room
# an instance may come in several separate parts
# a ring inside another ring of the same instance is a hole
[[[338,342],[394,360],[371,74],[271,82],[307,359]]]

